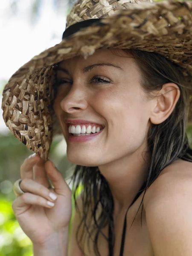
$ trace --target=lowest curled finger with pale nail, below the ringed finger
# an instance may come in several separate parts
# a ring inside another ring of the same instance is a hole
[[[20,195],[15,199],[15,201],[12,203],[12,209],[15,215],[19,215],[23,213],[23,207],[26,207],[26,205],[30,204],[47,208],[52,208],[55,205],[53,202],[48,201],[39,195],[26,192],[25,194]]]

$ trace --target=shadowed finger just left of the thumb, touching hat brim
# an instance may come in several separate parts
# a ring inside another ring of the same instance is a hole
[[[47,172],[45,170],[45,160],[40,158],[38,163],[35,164],[34,168],[34,180],[45,186],[46,188],[50,188],[51,184],[49,183],[48,177],[47,177]]]

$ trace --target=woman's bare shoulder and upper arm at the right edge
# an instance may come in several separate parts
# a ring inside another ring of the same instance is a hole
[[[143,201],[154,255],[192,255],[192,163],[166,167]]]

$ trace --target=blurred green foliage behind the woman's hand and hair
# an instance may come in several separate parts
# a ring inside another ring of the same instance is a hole
[[[68,170],[73,164],[67,160],[66,155],[57,156],[56,149],[60,142],[61,137],[54,138],[50,159],[67,179],[71,174]],[[32,242],[20,228],[12,210],[12,202],[15,200],[12,185],[20,178],[21,164],[32,153],[13,134],[9,133],[6,136],[0,134],[0,256],[33,255]],[[72,203],[74,209],[73,200]]]

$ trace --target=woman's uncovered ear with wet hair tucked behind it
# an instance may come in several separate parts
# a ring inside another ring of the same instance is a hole
[[[158,91],[154,99],[155,108],[151,111],[150,120],[157,125],[165,121],[173,112],[180,97],[180,89],[177,84],[167,83]]]

